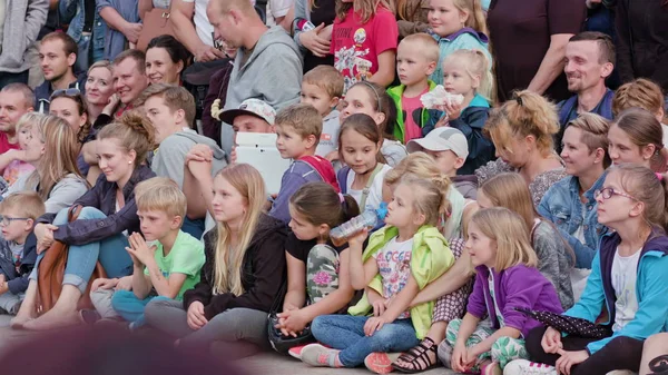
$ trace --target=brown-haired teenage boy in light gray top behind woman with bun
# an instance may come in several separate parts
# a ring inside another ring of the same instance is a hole
[[[156,83],[144,92],[144,108],[156,130],[156,146],[150,169],[157,175],[169,177],[184,188],[186,155],[193,146],[206,145],[213,152],[212,177],[227,166],[225,152],[216,142],[198,135],[189,125],[195,120],[195,98],[183,87]],[[204,219],[184,219],[181,228],[195,238],[204,233]]]

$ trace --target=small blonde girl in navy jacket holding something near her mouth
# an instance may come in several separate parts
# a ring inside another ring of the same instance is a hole
[[[480,49],[459,49],[443,61],[445,91],[464,97],[461,105],[446,103],[442,108],[446,125],[461,130],[469,144],[469,156],[458,169],[459,175],[472,175],[478,167],[494,158],[494,145],[482,130],[489,118],[493,93],[494,79],[489,67],[490,61]]]

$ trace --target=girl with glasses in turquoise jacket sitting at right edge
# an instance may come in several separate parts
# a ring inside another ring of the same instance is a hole
[[[527,351],[533,361],[548,366],[517,361],[505,372],[638,372],[642,342],[662,332],[668,316],[666,182],[665,175],[647,167],[621,165],[610,169],[602,188],[595,193],[598,220],[612,231],[600,240],[582,297],[563,315],[592,324],[605,316],[598,324],[609,330],[602,337],[590,338],[538,327],[527,337]]]

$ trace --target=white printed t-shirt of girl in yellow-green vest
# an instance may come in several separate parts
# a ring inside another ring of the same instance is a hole
[[[400,293],[409,283],[411,276],[411,256],[413,254],[413,238],[397,243],[392,238],[385,247],[374,255],[379,266],[379,274],[383,279],[383,297],[391,298]],[[402,313],[399,318],[410,317],[409,312]]]

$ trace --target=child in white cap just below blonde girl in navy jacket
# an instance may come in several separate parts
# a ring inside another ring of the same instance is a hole
[[[424,138],[410,140],[406,148],[410,154],[423,151],[433,157],[439,169],[450,177],[464,198],[475,200],[478,193],[475,175],[456,174],[469,156],[469,142],[461,130],[451,127],[436,128]]]

